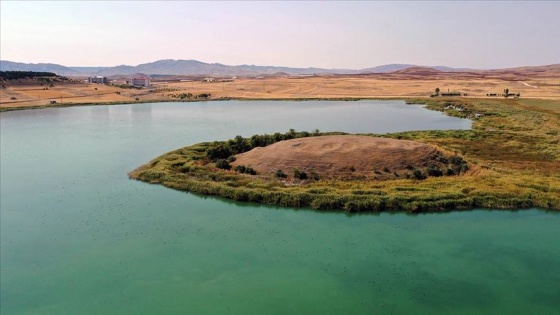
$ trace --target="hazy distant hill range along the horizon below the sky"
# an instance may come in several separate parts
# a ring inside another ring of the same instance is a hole
[[[0,60],[1,71],[41,71],[53,72],[61,76],[130,76],[136,73],[146,75],[185,75],[185,76],[286,76],[286,75],[312,75],[312,74],[374,74],[397,73],[411,69],[404,74],[435,74],[433,71],[446,73],[470,72],[498,74],[522,73],[526,75],[556,75],[560,73],[560,64],[548,66],[519,67],[496,70],[474,70],[467,68],[451,68],[446,66],[418,66],[414,64],[388,64],[365,69],[322,69],[322,68],[290,68],[277,66],[238,65],[230,66],[220,63],[205,63],[197,60],[165,59],[137,66],[120,65],[115,67],[66,67],[52,63],[20,63]]]

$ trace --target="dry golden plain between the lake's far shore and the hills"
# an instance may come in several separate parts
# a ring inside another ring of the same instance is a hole
[[[0,90],[0,108],[195,100],[200,94],[210,94],[210,99],[416,98],[429,96],[435,88],[442,93],[460,92],[476,98],[490,93],[499,95],[509,89],[510,93],[520,93],[522,99],[560,100],[560,72],[556,72],[480,74],[411,68],[390,74],[239,78],[228,82],[155,81],[150,88],[141,90],[75,82],[48,88],[6,84]],[[193,97],[186,98],[188,93]]]

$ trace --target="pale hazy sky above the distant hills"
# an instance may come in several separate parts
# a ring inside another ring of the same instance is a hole
[[[66,66],[560,63],[560,2],[0,1],[0,58]]]

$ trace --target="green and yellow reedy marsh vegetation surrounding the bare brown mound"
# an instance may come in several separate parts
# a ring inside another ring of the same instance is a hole
[[[410,169],[390,180],[320,178],[303,170],[258,174],[232,168],[234,155],[313,132],[237,136],[164,154],[129,174],[178,190],[289,207],[433,212],[476,207],[560,210],[560,114],[518,100],[420,99],[428,109],[470,118],[471,130],[408,131],[382,135],[437,146],[455,154],[446,170]],[[328,133],[333,134],[333,133]],[[341,133],[337,133],[341,134]],[[466,161],[466,162],[465,162]],[[467,164],[468,162],[468,164]],[[391,170],[378,170],[390,173]]]

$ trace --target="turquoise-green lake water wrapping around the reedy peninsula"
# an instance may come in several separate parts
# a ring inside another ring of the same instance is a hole
[[[560,216],[353,215],[128,180],[237,134],[467,129],[400,101],[210,102],[0,115],[0,313],[558,314]]]

